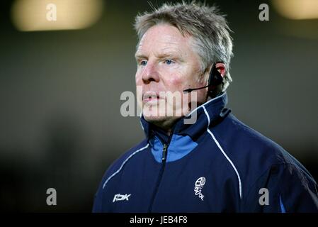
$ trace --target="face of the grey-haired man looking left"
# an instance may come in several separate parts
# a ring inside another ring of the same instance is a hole
[[[181,117],[180,113],[184,116],[191,111],[190,94],[183,90],[206,84],[199,79],[202,77],[200,62],[191,46],[191,36],[184,37],[178,28],[168,24],[153,26],[142,36],[135,57],[137,101],[142,106],[142,114],[147,121],[169,129]],[[138,95],[140,88],[142,94]],[[173,94],[181,100],[169,99],[161,95],[163,92],[170,92],[165,94]],[[196,92],[198,105],[206,101],[206,94],[207,89]],[[174,116],[162,116],[168,109],[174,111]]]

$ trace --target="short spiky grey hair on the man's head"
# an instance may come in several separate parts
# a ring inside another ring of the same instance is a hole
[[[205,3],[195,1],[187,4],[163,4],[156,9],[151,4],[153,11],[138,14],[135,18],[135,30],[138,35],[138,45],[144,33],[152,26],[159,23],[168,23],[178,28],[184,35],[193,38],[194,50],[200,57],[200,70],[206,72],[215,62],[224,62],[227,74],[223,79],[225,92],[232,82],[229,74],[229,62],[232,53],[232,31],[227,25],[225,15],[221,15],[216,6],[208,6]],[[138,46],[137,45],[137,46]]]

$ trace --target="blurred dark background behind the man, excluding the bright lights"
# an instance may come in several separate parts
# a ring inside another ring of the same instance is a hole
[[[318,19],[285,18],[273,1],[207,2],[234,31],[228,106],[318,179]],[[132,24],[151,6],[101,1],[87,28],[19,31],[13,4],[0,2],[0,211],[90,212],[110,163],[144,138],[138,117],[120,115],[120,94],[135,93]]]

